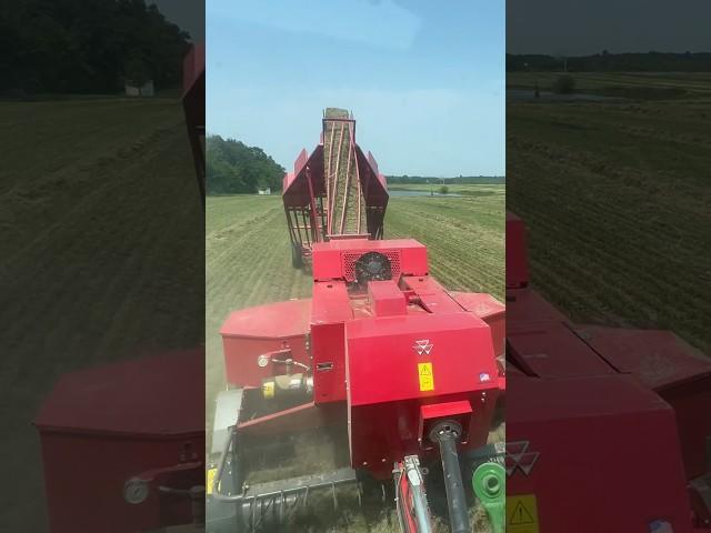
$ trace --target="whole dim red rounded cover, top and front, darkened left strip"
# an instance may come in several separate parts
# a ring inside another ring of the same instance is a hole
[[[161,494],[158,485],[204,484],[204,382],[196,380],[203,373],[199,350],[59,380],[34,421],[53,533],[146,531],[192,521],[190,501]],[[151,482],[138,505],[122,494],[131,477]]]

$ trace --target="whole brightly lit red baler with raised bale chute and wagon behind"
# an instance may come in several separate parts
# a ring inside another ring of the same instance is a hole
[[[221,330],[230,389],[216,412],[208,529],[288,529],[277,524],[310,493],[394,475],[402,530],[430,531],[420,464],[441,462],[450,526],[469,532],[458,455],[484,446],[492,426],[504,308],[489,294],[448,293],[419,242],[381,239],[384,178],[356,144],[352,117],[332,117],[284,178],[292,258],[308,260],[312,296],[236,311]],[[254,450],[318,428],[343,435],[346,464],[246,482]]]

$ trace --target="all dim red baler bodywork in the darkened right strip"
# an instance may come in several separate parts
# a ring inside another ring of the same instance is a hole
[[[524,243],[508,217],[508,494],[535,495],[547,533],[699,531],[711,361],[669,332],[572,323],[528,286]]]

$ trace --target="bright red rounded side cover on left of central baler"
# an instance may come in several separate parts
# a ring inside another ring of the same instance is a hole
[[[270,375],[286,368],[259,356],[289,348],[292,358],[310,364],[306,346],[311,300],[290,300],[236,311],[220,329],[227,381],[237,386],[260,386]]]

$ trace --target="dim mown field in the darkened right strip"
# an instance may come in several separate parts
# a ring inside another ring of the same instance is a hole
[[[711,74],[573,76],[684,92],[507,104],[508,209],[529,227],[533,281],[577,320],[670,329],[711,353]]]

